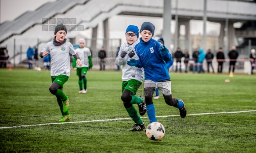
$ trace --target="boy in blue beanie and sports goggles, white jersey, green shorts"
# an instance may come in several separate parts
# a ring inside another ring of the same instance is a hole
[[[128,115],[132,118],[133,122],[135,122],[135,125],[130,131],[142,131],[145,128],[145,124],[137,114],[137,110],[134,108],[133,104],[138,104],[140,115],[146,113],[146,103],[144,98],[136,96],[136,92],[143,81],[143,71],[141,68],[132,67],[126,64],[130,59],[137,59],[133,58],[135,55],[133,49],[138,43],[139,28],[135,25],[129,25],[125,35],[127,42],[121,45],[118,53],[119,55],[115,59],[115,63],[118,66],[123,66],[121,99]]]

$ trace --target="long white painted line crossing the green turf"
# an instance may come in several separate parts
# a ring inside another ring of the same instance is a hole
[[[253,112],[256,110],[251,111],[231,111],[231,112],[216,112],[216,113],[199,113],[199,114],[188,114],[187,116],[195,116],[195,115],[210,115],[210,114],[236,114],[236,113],[247,113]],[[166,118],[166,117],[175,117],[180,115],[166,115],[166,116],[156,116],[157,118]],[[141,117],[141,118],[148,118],[148,117]],[[114,118],[114,119],[99,119],[99,120],[92,120],[92,121],[79,121],[79,122],[58,122],[58,123],[46,123],[46,124],[34,124],[34,125],[20,125],[20,126],[9,126],[9,127],[0,127],[0,129],[10,129],[10,128],[22,128],[22,127],[29,127],[29,126],[42,126],[42,125],[55,125],[55,124],[71,124],[71,123],[87,123],[87,122],[105,122],[105,121],[115,121],[115,120],[126,120],[130,118]]]

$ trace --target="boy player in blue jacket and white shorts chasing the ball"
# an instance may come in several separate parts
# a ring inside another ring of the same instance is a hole
[[[171,60],[172,56],[165,46],[151,38],[154,32],[155,26],[151,22],[144,22],[141,25],[140,42],[134,47],[136,54],[127,61],[127,64],[144,68],[144,95],[150,123],[156,122],[155,106],[152,100],[156,88],[162,92],[166,104],[178,108],[180,117],[185,118],[187,110],[184,101],[172,97],[171,80],[166,66],[166,62]],[[136,56],[139,57],[138,60]]]

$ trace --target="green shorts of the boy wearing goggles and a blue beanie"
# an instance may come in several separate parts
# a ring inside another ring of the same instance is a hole
[[[122,83],[122,93],[124,89],[130,90],[133,92],[134,95],[136,95],[137,90],[141,87],[142,82],[131,79],[129,81],[123,81]]]

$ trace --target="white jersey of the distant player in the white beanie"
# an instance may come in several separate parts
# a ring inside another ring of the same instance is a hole
[[[79,66],[78,64],[76,64],[76,67],[89,67],[88,56],[91,56],[90,49],[88,49],[87,47],[77,48],[76,52],[79,55],[81,62],[83,64],[82,66]]]

